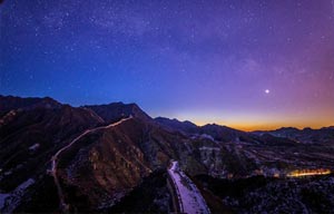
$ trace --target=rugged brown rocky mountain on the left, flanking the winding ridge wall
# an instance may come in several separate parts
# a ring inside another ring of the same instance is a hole
[[[189,156],[186,136],[156,125],[137,105],[73,108],[50,98],[12,101],[12,97],[1,97],[1,104],[8,99],[0,126],[3,212],[57,211],[57,191],[51,193],[52,206],[46,206],[41,191],[55,189],[47,173],[51,157],[85,130],[130,115],[126,123],[85,135],[59,156],[57,174],[70,211],[110,207],[153,171],[167,167],[171,158],[197,163],[194,172],[203,168]],[[33,182],[14,194],[26,181]]]

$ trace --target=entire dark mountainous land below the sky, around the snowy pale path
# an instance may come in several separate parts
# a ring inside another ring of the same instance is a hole
[[[166,168],[176,159],[213,212],[327,213],[331,175],[287,176],[333,171],[333,133],[245,133],[153,119],[136,104],[71,107],[0,96],[0,211],[63,211],[52,177],[52,157],[61,150],[57,177],[70,212],[166,213]]]

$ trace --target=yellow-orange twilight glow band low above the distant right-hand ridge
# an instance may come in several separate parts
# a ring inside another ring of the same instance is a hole
[[[253,132],[253,130],[275,130],[282,127],[295,127],[303,129],[306,127],[318,129],[334,126],[333,110],[317,111],[318,114],[298,115],[292,113],[238,113],[226,111],[220,114],[218,110],[184,110],[177,114],[156,114],[165,115],[168,118],[177,118],[180,121],[189,120],[197,126],[217,124],[230,128]]]

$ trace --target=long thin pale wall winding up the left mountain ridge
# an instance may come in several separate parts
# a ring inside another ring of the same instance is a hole
[[[68,205],[65,203],[65,200],[63,200],[63,193],[62,193],[62,189],[61,189],[61,186],[60,186],[60,183],[59,183],[59,179],[58,179],[58,176],[57,176],[57,160],[58,160],[58,157],[59,155],[70,148],[76,142],[78,142],[80,138],[82,138],[84,136],[90,134],[90,133],[94,133],[94,132],[97,132],[97,130],[102,130],[102,129],[108,129],[110,127],[115,127],[115,126],[118,126],[120,125],[121,123],[128,120],[128,119],[131,119],[132,116],[129,116],[128,118],[124,118],[119,121],[116,121],[114,124],[110,124],[108,126],[101,126],[101,127],[97,127],[97,128],[91,128],[91,129],[87,129],[85,130],[81,135],[79,135],[78,137],[76,137],[71,143],[69,143],[68,145],[66,145],[65,147],[60,148],[51,158],[51,163],[52,163],[52,167],[51,167],[51,175],[53,177],[53,181],[55,181],[55,184],[57,186],[57,191],[58,191],[58,196],[59,196],[59,205],[60,205],[60,208],[62,211],[67,211],[69,207]]]

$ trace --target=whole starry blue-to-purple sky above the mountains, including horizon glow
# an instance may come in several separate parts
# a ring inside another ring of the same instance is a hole
[[[4,0],[0,94],[245,130],[334,125],[334,0]]]

